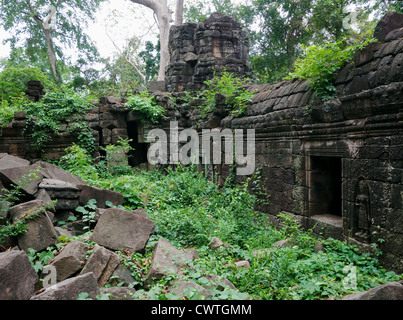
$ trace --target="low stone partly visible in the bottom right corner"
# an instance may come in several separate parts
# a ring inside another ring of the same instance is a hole
[[[349,294],[343,300],[403,300],[403,285],[390,282],[368,291]]]

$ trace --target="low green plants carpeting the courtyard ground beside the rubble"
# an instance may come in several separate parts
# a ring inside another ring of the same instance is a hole
[[[160,237],[177,248],[197,249],[200,258],[184,269],[184,279],[203,284],[206,275],[216,274],[239,289],[213,290],[214,299],[241,299],[246,294],[253,299],[339,299],[401,279],[380,267],[376,255],[361,253],[357,247],[338,240],[317,239],[285,214],[279,215],[284,227],[275,229],[264,215],[255,212],[258,199],[247,188],[251,181],[220,188],[193,167],[105,175],[99,167],[85,162],[90,158],[83,157],[83,149],[75,146],[71,150],[75,155],[66,155],[62,166],[72,169],[66,159],[78,159],[79,168],[73,173],[92,168],[87,178],[84,172],[81,174],[87,183],[123,193],[127,209],[144,207],[156,224],[156,234],[143,253],[119,252],[124,266],[136,279],[131,286],[137,289],[137,299],[177,299],[165,290],[175,276],[163,278],[150,290],[141,289],[153,246]],[[80,238],[87,239],[88,235]],[[230,246],[210,250],[208,244],[214,236]],[[273,245],[281,239],[287,239],[289,246]],[[315,250],[318,243],[323,250]],[[244,259],[251,268],[236,268],[235,262]],[[200,297],[189,291],[187,298]]]

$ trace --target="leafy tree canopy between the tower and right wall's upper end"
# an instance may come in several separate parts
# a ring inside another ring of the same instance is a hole
[[[254,0],[258,21],[252,66],[263,82],[281,80],[301,54],[301,45],[339,41],[353,33],[346,10],[363,0]],[[354,12],[355,14],[355,12]]]

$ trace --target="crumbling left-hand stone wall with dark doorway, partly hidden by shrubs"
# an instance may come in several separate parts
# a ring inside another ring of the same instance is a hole
[[[103,155],[102,148],[109,144],[116,144],[118,139],[131,138],[132,146],[136,149],[137,158],[130,164],[146,166],[146,145],[143,143],[144,124],[138,114],[129,112],[123,106],[123,100],[114,97],[101,97],[99,102],[93,102],[93,108],[85,115],[85,120],[95,139],[94,158]],[[30,127],[27,126],[27,116],[24,111],[14,114],[14,120],[0,127],[0,153],[23,157],[35,162],[41,159],[58,160],[66,154],[65,149],[73,143],[78,143],[75,132],[69,131],[66,122],[60,126],[58,134],[49,133],[51,139],[43,150],[35,150],[29,137]],[[140,134],[139,134],[140,133]],[[129,160],[128,160],[129,161]]]

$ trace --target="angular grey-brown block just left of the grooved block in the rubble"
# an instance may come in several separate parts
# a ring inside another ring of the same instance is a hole
[[[81,269],[88,249],[79,241],[71,241],[63,248],[50,264],[56,268],[58,282],[67,279]]]

